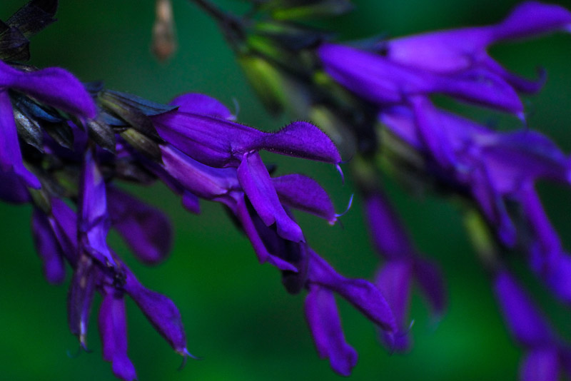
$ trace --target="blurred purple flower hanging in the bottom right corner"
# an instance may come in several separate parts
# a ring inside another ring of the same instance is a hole
[[[495,275],[495,294],[512,336],[526,350],[520,368],[520,380],[558,380],[560,372],[569,373],[569,348],[540,315],[510,273]]]

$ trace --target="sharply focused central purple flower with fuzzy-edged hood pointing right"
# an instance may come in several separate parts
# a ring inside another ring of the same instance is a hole
[[[200,171],[211,174],[213,171],[205,166],[236,168],[235,174],[226,171],[226,176],[236,176],[239,186],[248,195],[253,208],[264,223],[268,226],[276,223],[278,233],[283,238],[294,242],[304,240],[298,224],[285,213],[258,151],[264,149],[338,165],[341,159],[330,138],[306,122],[292,123],[276,133],[265,133],[243,126],[229,121],[228,118],[232,118],[231,112],[216,99],[200,94],[180,96],[173,104],[180,107],[175,111],[153,116],[158,133],[172,145],[172,148],[161,148],[163,161],[171,163],[171,169],[168,171],[180,173],[174,163],[189,163],[187,158],[203,164]],[[174,151],[175,148],[179,153]],[[181,153],[187,158],[182,158]],[[195,163],[190,165],[198,168]],[[187,176],[185,173],[179,175],[181,178]],[[232,186],[236,187],[238,184],[234,183]],[[192,193],[200,195],[201,191]],[[333,216],[330,222],[334,221]]]

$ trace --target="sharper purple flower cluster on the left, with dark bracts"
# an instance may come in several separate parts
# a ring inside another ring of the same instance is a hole
[[[11,28],[28,25],[17,20],[42,24],[34,12],[53,16],[52,5],[31,1],[13,16]],[[340,171],[337,148],[313,124],[298,121],[263,132],[236,123],[226,106],[202,94],[187,93],[166,106],[101,83],[82,84],[61,68],[0,61],[0,81],[1,198],[34,205],[34,242],[49,283],[65,280],[66,263],[73,270],[69,329],[85,350],[94,295],[101,294],[103,359],[117,377],[136,378],[127,355],[126,296],[173,350],[192,356],[173,301],[141,285],[106,242],[114,228],[136,258],[150,265],[166,258],[171,247],[166,216],[121,191],[118,181],[160,179],[193,213],[199,213],[201,199],[228,208],[260,262],[281,270],[286,290],[309,291],[308,322],[320,354],[338,372],[348,374],[356,357],[345,343],[333,293],[386,335],[395,332],[395,317],[379,288],[338,274],[310,248],[293,218],[291,208],[333,225],[339,215],[328,194],[307,176],[271,176],[260,156],[271,151],[331,163]]]

